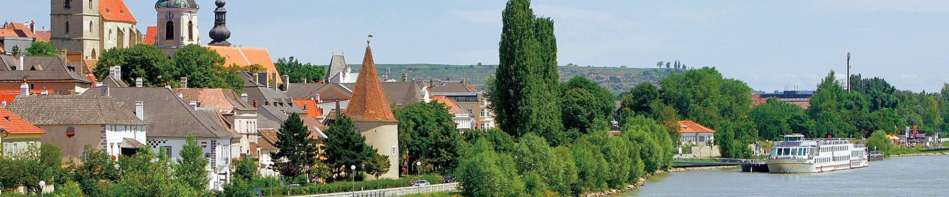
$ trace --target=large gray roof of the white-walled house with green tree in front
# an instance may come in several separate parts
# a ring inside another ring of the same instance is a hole
[[[100,87],[85,91],[84,97],[98,94]],[[212,117],[195,111],[184,100],[167,88],[112,87],[112,98],[124,102],[125,107],[135,109],[135,101],[144,102],[145,121],[148,122],[148,137],[195,137],[231,138],[233,134],[214,122]]]

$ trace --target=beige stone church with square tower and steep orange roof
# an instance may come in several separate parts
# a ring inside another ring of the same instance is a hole
[[[49,18],[50,43],[82,51],[84,60],[98,59],[109,48],[141,43],[138,22],[121,0],[52,0]]]

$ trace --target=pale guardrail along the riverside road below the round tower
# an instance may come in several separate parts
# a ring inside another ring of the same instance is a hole
[[[382,189],[363,190],[363,191],[300,195],[300,196],[293,196],[293,197],[389,197],[389,196],[404,196],[404,195],[419,194],[419,193],[456,191],[457,188],[458,188],[458,183],[450,183],[450,184],[436,184],[436,185],[431,185],[431,186],[417,186],[417,187],[405,187],[405,188],[382,188]]]

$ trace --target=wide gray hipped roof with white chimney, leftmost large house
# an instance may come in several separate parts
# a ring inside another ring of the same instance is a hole
[[[49,95],[17,97],[7,110],[35,125],[144,125],[145,121],[133,114],[135,103],[132,105],[129,110],[113,98]]]

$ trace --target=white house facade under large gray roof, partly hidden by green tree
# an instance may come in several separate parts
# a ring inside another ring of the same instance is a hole
[[[148,146],[151,146],[155,152],[165,151],[172,160],[181,159],[181,149],[184,147],[185,138],[159,138],[148,139]],[[208,189],[222,190],[226,183],[230,183],[231,177],[231,138],[197,138],[197,146],[202,148],[202,154],[208,158]],[[237,145],[234,145],[237,146]]]

